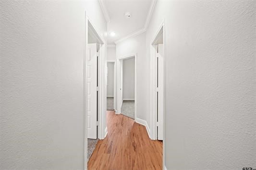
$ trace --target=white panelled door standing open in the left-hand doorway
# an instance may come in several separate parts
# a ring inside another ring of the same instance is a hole
[[[87,53],[87,137],[97,139],[97,79],[98,53],[97,44],[88,44]]]

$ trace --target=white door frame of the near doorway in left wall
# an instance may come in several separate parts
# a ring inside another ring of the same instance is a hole
[[[97,31],[96,27],[93,25],[91,20],[87,16],[87,12],[85,11],[85,49],[84,49],[84,57],[83,57],[83,111],[84,111],[84,165],[85,165],[85,170],[87,170],[87,47],[88,47],[88,29],[93,32],[93,34],[97,37],[97,42],[100,44],[99,48],[99,72],[98,72],[98,80],[99,80],[99,103],[98,103],[98,138],[99,139],[104,139],[105,134],[107,133],[107,129],[103,127],[103,119],[105,115],[106,119],[106,105],[107,105],[107,91],[105,88],[106,84],[106,78],[105,78],[105,68],[106,68],[106,43],[104,38],[101,37],[99,32]],[[105,99],[105,100],[104,100]]]

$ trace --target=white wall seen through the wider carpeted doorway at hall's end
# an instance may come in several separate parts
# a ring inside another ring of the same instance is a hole
[[[123,60],[122,99],[134,100],[135,91],[135,57]]]

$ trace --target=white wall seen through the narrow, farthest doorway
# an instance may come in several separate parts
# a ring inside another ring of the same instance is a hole
[[[107,96],[114,96],[114,62],[108,62]]]

